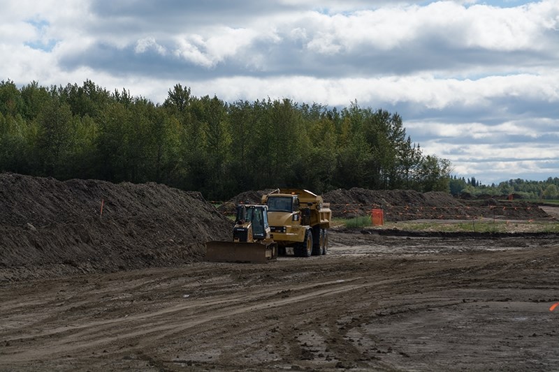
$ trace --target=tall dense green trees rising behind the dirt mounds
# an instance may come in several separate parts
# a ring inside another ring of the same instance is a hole
[[[129,91],[0,83],[0,170],[57,179],[156,181],[225,200],[277,186],[449,191],[402,118],[351,103],[225,103],[175,85],[162,104]]]

